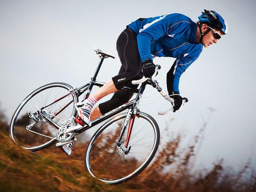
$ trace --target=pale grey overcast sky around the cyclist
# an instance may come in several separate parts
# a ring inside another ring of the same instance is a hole
[[[175,133],[184,132],[184,146],[207,123],[206,137],[198,155],[197,167],[211,167],[224,158],[235,169],[251,158],[256,168],[256,107],[254,90],[256,65],[253,61],[256,36],[252,0],[232,1],[0,1],[0,82],[1,109],[8,121],[19,103],[39,86],[65,82],[79,87],[89,82],[99,57],[91,48],[113,53],[116,59],[103,62],[97,80],[106,82],[118,73],[120,60],[116,40],[125,26],[138,18],[181,13],[193,21],[204,9],[215,10],[229,25],[228,34],[218,44],[204,48],[199,58],[182,74],[180,93],[187,97],[180,113],[158,116],[168,108],[161,100],[140,109],[153,116],[163,137],[166,122]],[[167,92],[166,73],[174,58],[155,58],[164,78],[158,81]],[[97,89],[94,89],[95,91]],[[153,91],[148,88],[145,95]],[[151,94],[153,98],[157,93]],[[106,101],[110,96],[103,98]],[[157,96],[148,102],[161,98]],[[147,98],[148,99],[148,98]],[[144,102],[146,103],[146,101]],[[186,143],[187,142],[187,143]]]

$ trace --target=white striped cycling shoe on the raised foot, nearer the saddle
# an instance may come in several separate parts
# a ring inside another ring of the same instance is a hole
[[[90,121],[90,114],[91,114],[91,108],[88,103],[83,103],[83,102],[77,102],[75,105],[75,109],[78,112],[78,116],[80,120],[83,121],[84,124],[91,126],[91,121]]]

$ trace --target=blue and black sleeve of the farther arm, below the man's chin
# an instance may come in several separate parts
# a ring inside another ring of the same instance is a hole
[[[167,90],[169,95],[172,95],[172,91],[179,91],[179,82],[181,74],[191,65],[195,60],[182,57],[181,59],[176,59],[171,69],[167,72]]]

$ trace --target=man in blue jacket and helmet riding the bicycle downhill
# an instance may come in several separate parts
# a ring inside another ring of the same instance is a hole
[[[87,125],[90,120],[123,105],[132,97],[132,93],[118,91],[124,86],[136,89],[132,80],[143,77],[151,78],[155,72],[153,57],[174,57],[176,60],[167,72],[167,90],[174,99],[174,112],[182,104],[178,90],[181,74],[200,55],[204,47],[217,43],[222,35],[227,34],[227,22],[216,11],[204,10],[197,23],[182,14],[167,14],[153,18],[139,18],[119,35],[117,52],[121,68],[117,76],[110,79],[84,102],[75,106],[78,116]],[[93,108],[95,103],[106,95],[113,97]],[[72,143],[63,146],[70,155]]]

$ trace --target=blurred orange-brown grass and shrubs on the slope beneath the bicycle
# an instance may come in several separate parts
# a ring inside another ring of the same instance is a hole
[[[5,118],[1,111],[0,116]],[[0,120],[0,191],[255,192],[256,172],[250,167],[250,159],[238,174],[225,170],[223,159],[215,162],[212,170],[192,172],[205,127],[187,148],[180,148],[184,135],[168,133],[166,127],[170,140],[159,148],[146,170],[123,184],[108,185],[84,169],[87,143],[77,143],[69,157],[54,146],[31,153],[10,139],[6,122]],[[244,179],[248,172],[250,176]]]

